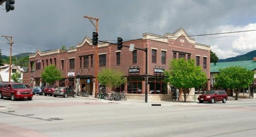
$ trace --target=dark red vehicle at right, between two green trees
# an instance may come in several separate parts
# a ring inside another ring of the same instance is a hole
[[[206,91],[205,94],[198,96],[199,103],[211,102],[215,103],[217,101],[222,101],[222,103],[227,102],[227,93],[224,90],[210,90]]]

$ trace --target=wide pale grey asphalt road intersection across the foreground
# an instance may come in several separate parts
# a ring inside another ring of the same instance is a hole
[[[160,103],[162,106],[150,106],[129,100],[107,102],[39,95],[32,101],[4,99],[0,100],[0,136],[256,136],[256,100]]]

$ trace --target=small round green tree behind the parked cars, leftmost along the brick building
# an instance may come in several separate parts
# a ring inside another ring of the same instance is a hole
[[[55,81],[61,80],[61,71],[58,70],[54,65],[45,67],[41,73],[41,78],[49,84],[54,84]]]

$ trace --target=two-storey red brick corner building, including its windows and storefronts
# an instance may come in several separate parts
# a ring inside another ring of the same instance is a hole
[[[185,36],[185,37],[184,37]],[[143,38],[126,41],[123,45],[134,44],[137,48],[148,48],[148,100],[168,100],[171,98],[171,85],[164,82],[163,70],[169,69],[168,62],[173,58],[184,57],[194,59],[208,77],[207,89],[210,88],[210,46],[195,43],[195,39],[187,37],[183,28],[164,36],[144,33]],[[170,38],[166,38],[170,37]],[[116,45],[98,44],[99,71],[102,68],[119,69],[127,77],[127,83],[116,90],[125,91],[128,98],[144,100],[145,98],[145,51],[129,51],[123,47],[117,50]],[[23,82],[32,86],[45,84],[41,80],[41,71],[49,64],[62,71],[63,79],[56,82],[59,86],[75,86],[80,78],[81,88],[90,94],[95,92],[95,46],[89,37],[67,51],[60,49],[38,51],[29,55],[29,72],[24,73]],[[193,90],[195,91],[195,90]],[[191,92],[193,94],[194,92]],[[189,98],[188,98],[189,100]]]

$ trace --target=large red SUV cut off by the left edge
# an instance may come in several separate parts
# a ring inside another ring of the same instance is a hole
[[[11,97],[11,100],[27,99],[32,100],[32,89],[22,83],[0,83],[0,99]]]

